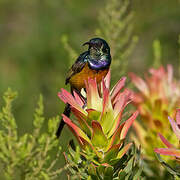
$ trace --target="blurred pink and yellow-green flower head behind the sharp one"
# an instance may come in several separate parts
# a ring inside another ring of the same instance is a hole
[[[157,133],[161,132],[168,140],[175,142],[168,123],[168,115],[174,116],[180,106],[180,82],[173,78],[171,65],[159,69],[151,68],[150,75],[145,75],[145,80],[134,73],[130,73],[131,80],[138,92],[133,93],[134,105],[141,115],[141,122],[135,122],[134,128],[137,132],[137,142],[142,144],[144,155],[154,159],[153,148],[160,145]]]

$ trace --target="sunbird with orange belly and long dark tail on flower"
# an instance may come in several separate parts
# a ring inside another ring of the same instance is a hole
[[[85,82],[88,78],[96,79],[99,84],[106,76],[111,65],[111,53],[108,43],[101,38],[93,38],[83,44],[88,45],[88,50],[80,54],[75,63],[71,66],[65,84],[70,84],[71,93],[76,91],[80,97],[81,90],[85,90]],[[71,107],[66,104],[64,113],[67,117],[70,116]],[[56,132],[57,138],[61,135],[64,127],[64,121],[61,119]]]

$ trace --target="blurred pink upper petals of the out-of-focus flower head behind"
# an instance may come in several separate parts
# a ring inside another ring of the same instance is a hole
[[[171,103],[171,106],[180,104],[180,82],[173,79],[173,68],[167,66],[167,71],[163,66],[159,69],[149,69],[150,76],[145,75],[145,80],[138,77],[134,73],[129,73],[129,76],[140,91],[134,93],[133,101],[137,106],[141,106],[147,100],[154,103],[157,99],[163,103]],[[141,109],[141,108],[140,108]]]

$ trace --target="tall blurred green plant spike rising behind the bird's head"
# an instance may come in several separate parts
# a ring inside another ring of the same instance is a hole
[[[99,28],[96,30],[96,34],[110,44],[113,74],[119,77],[127,73],[128,57],[138,40],[133,35],[134,12],[130,6],[130,0],[107,1],[100,12]]]

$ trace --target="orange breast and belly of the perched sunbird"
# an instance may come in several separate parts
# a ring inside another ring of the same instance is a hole
[[[88,78],[95,79],[96,82],[101,82],[102,78],[106,76],[109,69],[103,69],[103,70],[92,70],[89,68],[88,63],[84,66],[81,72],[73,75],[69,83],[72,87],[81,90],[82,88],[85,88],[85,81],[88,80]]]

